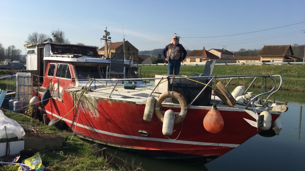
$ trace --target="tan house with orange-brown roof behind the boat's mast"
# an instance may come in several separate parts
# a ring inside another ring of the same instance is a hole
[[[120,53],[120,52],[124,52],[124,47],[125,47],[125,60],[129,60],[134,58],[134,62],[138,63],[138,49],[136,47],[134,47],[131,43],[129,43],[127,40],[122,42],[110,42],[110,44],[108,45],[108,54],[111,55],[112,53]],[[100,55],[104,55],[105,54],[105,46],[99,48],[98,50]],[[110,57],[110,56],[109,56]]]

